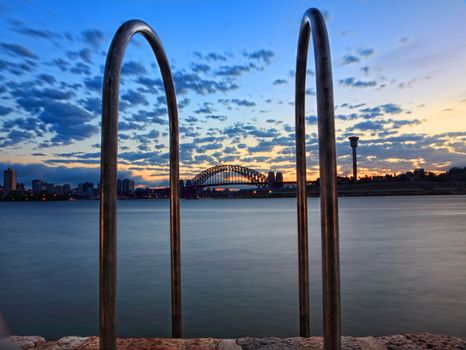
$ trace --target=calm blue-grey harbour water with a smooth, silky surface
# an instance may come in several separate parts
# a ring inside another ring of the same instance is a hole
[[[184,336],[298,333],[295,199],[182,202]],[[98,333],[98,202],[0,203],[15,334]],[[318,199],[311,329],[321,334]],[[168,201],[120,201],[118,332],[170,335]],[[466,196],[341,198],[343,333],[466,337]]]

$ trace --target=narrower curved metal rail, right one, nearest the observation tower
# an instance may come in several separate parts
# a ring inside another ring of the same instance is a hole
[[[317,85],[324,349],[340,349],[340,258],[335,146],[335,115],[330,48],[324,18],[317,9],[304,14],[296,60],[296,176],[298,189],[298,260],[300,335],[309,329],[309,262],[306,193],[306,65],[312,27]]]

